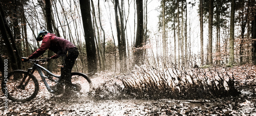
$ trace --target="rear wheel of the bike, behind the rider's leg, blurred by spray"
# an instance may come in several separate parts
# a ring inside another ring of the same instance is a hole
[[[79,72],[71,73],[71,81],[73,84],[78,86],[78,91],[80,91],[81,93],[89,92],[92,86],[91,79],[85,74]]]

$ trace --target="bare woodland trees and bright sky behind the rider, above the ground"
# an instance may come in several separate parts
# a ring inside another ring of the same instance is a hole
[[[41,29],[78,47],[80,55],[73,70],[80,72],[125,72],[142,64],[190,68],[256,63],[255,0],[0,3],[0,63],[8,59],[10,70],[29,67],[20,57],[40,47],[35,38]],[[158,20],[148,20],[155,11]],[[154,21],[157,31],[148,27]],[[52,55],[47,50],[42,57]],[[56,69],[61,61],[51,61],[48,69]]]

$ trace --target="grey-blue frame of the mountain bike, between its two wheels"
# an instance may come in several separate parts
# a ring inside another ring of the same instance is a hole
[[[41,77],[41,79],[42,79],[42,81],[44,81],[44,84],[46,85],[47,90],[50,93],[54,93],[54,91],[50,88],[50,85],[46,82],[46,78],[51,80],[51,81],[54,81],[55,83],[60,83],[60,82],[58,82],[58,81],[56,81],[56,80],[54,80],[54,79],[49,77],[49,76],[54,76],[56,78],[60,78],[60,75],[53,74],[52,72],[50,72],[49,70],[47,70],[46,68],[40,66],[37,63],[38,62],[35,62],[33,67],[29,68],[27,72],[33,74],[34,71],[37,70],[39,75],[40,75],[40,77]],[[42,70],[46,71],[48,76],[45,76],[44,73],[42,72]],[[27,75],[25,75],[25,78],[24,78],[24,80],[22,80],[22,83],[25,81],[26,77],[27,77]],[[26,81],[26,83],[28,83],[29,80],[30,80],[30,78]],[[26,84],[25,84],[25,86],[26,86]]]

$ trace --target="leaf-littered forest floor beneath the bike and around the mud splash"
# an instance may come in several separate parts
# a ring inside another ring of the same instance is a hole
[[[236,87],[241,92],[239,96],[193,100],[95,100],[87,94],[55,96],[39,81],[36,98],[24,103],[9,100],[7,110],[1,92],[0,115],[256,115],[256,66],[235,66],[228,70],[234,73]],[[113,72],[100,72],[91,80],[94,86],[99,86],[117,76]]]

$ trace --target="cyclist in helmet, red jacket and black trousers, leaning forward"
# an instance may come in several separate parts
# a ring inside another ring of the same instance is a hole
[[[65,83],[68,87],[71,87],[71,70],[75,64],[76,58],[79,55],[77,47],[70,41],[57,37],[54,34],[49,33],[46,30],[41,30],[38,33],[36,41],[42,41],[41,46],[32,53],[27,60],[34,59],[42,55],[47,49],[52,50],[55,55],[51,56],[49,59],[57,59],[59,56],[65,57],[63,62],[63,68],[61,68],[61,77],[59,79],[60,83]],[[69,91],[67,89],[67,91]]]

